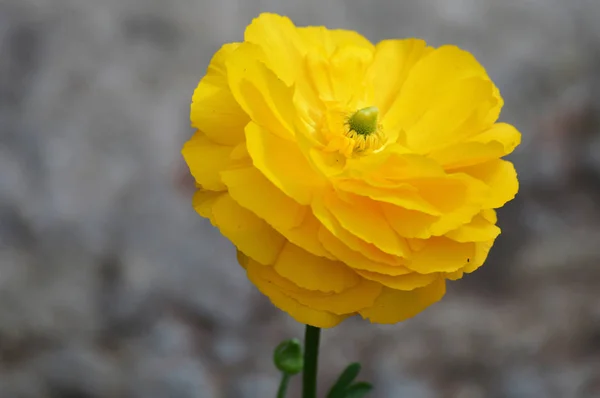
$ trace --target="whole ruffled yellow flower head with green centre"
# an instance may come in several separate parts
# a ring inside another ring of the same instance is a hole
[[[418,39],[261,14],[194,92],[193,205],[297,321],[412,317],[479,268],[514,198],[498,89],[475,58]]]

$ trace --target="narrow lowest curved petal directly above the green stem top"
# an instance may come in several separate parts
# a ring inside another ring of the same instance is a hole
[[[268,267],[261,266],[256,262],[250,262],[247,265],[248,279],[261,291],[262,294],[269,297],[275,307],[287,312],[299,323],[311,325],[319,328],[331,328],[341,323],[348,316],[335,315],[327,311],[319,311],[309,306],[300,304],[273,284],[267,276],[261,271]]]

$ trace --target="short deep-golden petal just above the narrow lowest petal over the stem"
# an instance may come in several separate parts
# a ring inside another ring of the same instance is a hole
[[[339,293],[360,281],[342,262],[314,256],[289,242],[283,246],[273,268],[296,286],[321,292]]]

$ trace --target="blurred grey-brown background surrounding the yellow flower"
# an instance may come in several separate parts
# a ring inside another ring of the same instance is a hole
[[[373,398],[600,397],[600,1],[0,0],[0,398],[275,396],[302,326],[193,211],[179,153],[261,11],[457,44],[523,132],[487,265],[405,323],[325,331],[321,391],[362,361]]]

